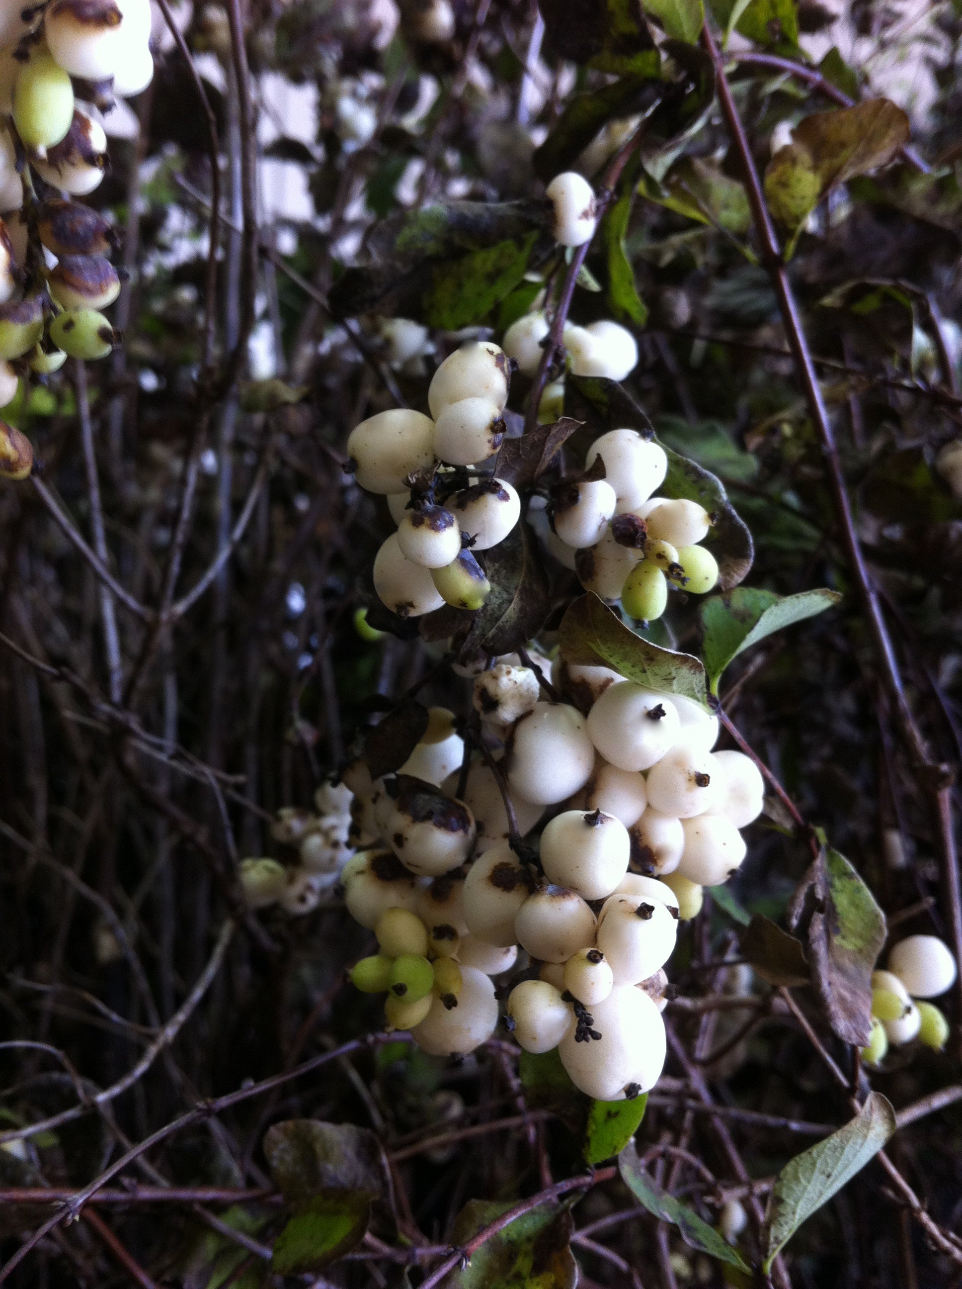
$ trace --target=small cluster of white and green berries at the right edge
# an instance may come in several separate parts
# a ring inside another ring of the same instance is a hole
[[[908,936],[889,954],[889,969],[872,974],[872,1036],[863,1057],[878,1065],[889,1047],[918,1039],[940,1052],[949,1022],[934,1003],[956,981],[956,959],[936,936]]]

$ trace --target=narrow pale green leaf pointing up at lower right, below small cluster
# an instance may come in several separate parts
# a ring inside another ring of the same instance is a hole
[[[775,1178],[764,1228],[764,1271],[802,1222],[862,1172],[895,1132],[895,1111],[881,1092],[869,1092],[858,1115],[796,1155]]]

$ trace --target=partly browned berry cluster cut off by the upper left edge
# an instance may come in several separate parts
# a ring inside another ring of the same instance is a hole
[[[147,88],[149,36],[149,0],[13,6],[0,30],[0,406],[21,369],[49,374],[68,354],[113,348],[100,312],[120,293],[107,258],[113,229],[68,199],[103,179],[107,135],[94,102]]]

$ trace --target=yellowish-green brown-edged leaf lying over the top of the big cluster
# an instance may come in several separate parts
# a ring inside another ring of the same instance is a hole
[[[704,668],[697,657],[643,641],[592,592],[568,606],[558,642],[565,663],[610,666],[655,693],[679,693],[708,706]]]

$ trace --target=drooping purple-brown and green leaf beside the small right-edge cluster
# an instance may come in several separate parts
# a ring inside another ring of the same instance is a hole
[[[788,926],[802,931],[815,993],[842,1043],[864,1047],[872,1027],[872,971],[885,944],[885,914],[851,864],[822,849],[792,896]]]

